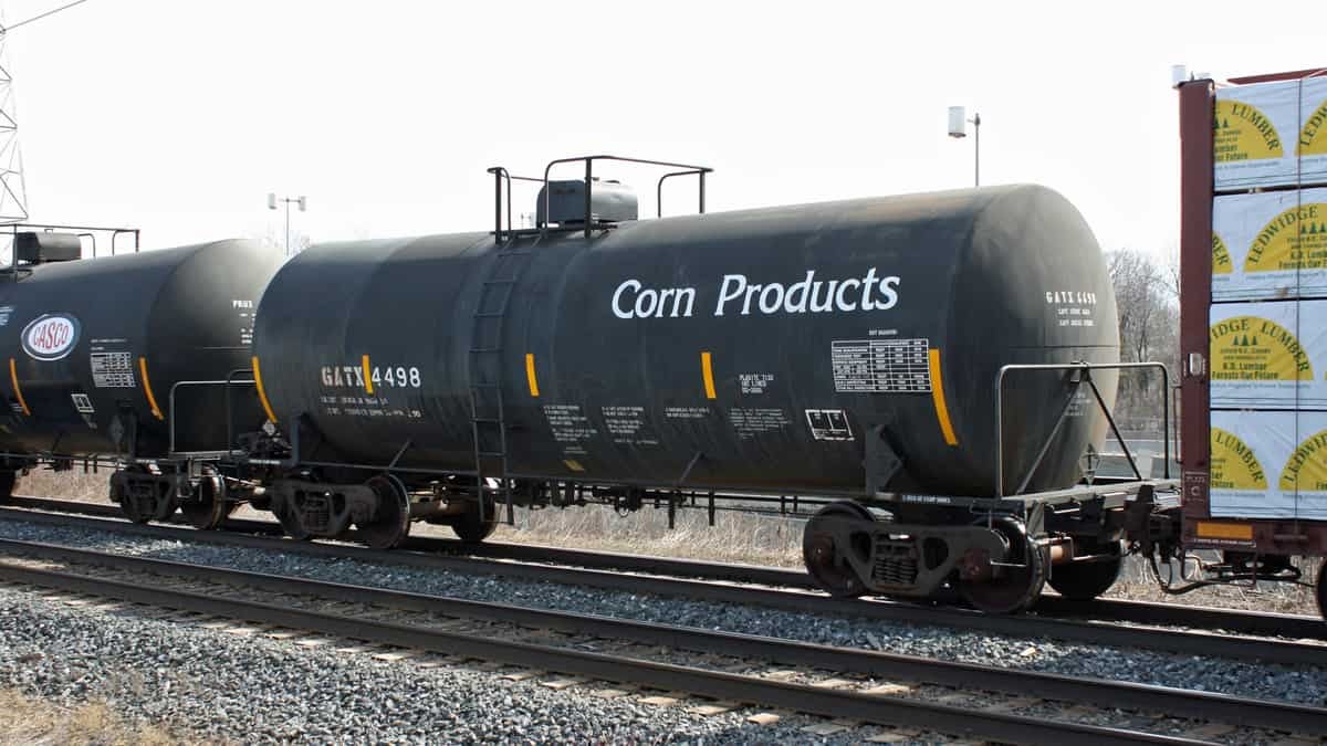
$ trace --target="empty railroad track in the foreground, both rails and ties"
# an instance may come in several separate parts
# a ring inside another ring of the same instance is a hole
[[[0,540],[0,552],[7,558],[0,561],[0,579],[23,584],[405,648],[398,657],[419,652],[476,657],[527,670],[685,692],[731,702],[730,706],[750,704],[928,731],[943,723],[940,733],[946,735],[1014,742],[1196,743],[1205,738],[1275,741],[1286,734],[1316,738],[1327,733],[1327,709],[1304,705],[382,591],[52,544]],[[61,567],[52,569],[50,564]],[[147,575],[151,581],[143,583]],[[255,600],[255,595],[261,600]],[[393,621],[384,621],[387,616]],[[549,636],[559,640],[551,641]],[[606,652],[588,652],[584,649],[588,646]],[[661,656],[665,660],[658,660]],[[677,662],[678,657],[683,661]],[[1157,711],[1165,715],[1148,714]],[[1104,717],[1115,723],[1067,719],[1072,717]]]

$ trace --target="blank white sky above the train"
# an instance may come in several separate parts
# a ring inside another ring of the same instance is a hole
[[[1160,255],[1170,65],[1327,66],[1324,21],[1320,1],[90,0],[7,54],[32,219],[150,247],[280,235],[268,191],[309,196],[292,222],[314,240],[488,230],[486,167],[589,153],[713,166],[714,211],[966,187],[973,138],[945,134],[966,105],[983,185],[1043,183],[1104,248]],[[652,178],[604,175],[654,214]]]

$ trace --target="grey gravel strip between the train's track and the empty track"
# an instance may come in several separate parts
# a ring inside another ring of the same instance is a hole
[[[589,612],[1079,677],[1222,692],[1241,697],[1327,705],[1327,669],[1318,666],[1290,668],[1145,650],[1121,652],[1052,640],[989,636],[950,628],[909,627],[839,616],[798,615],[576,585],[427,572],[357,560],[328,560],[173,540],[135,539],[100,531],[28,526],[7,520],[0,520],[0,536],[418,593]]]

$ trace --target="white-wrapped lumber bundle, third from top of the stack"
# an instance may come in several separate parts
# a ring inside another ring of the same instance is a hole
[[[1212,406],[1327,409],[1327,300],[1212,307]]]

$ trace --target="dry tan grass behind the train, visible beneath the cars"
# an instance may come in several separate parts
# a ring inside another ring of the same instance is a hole
[[[106,474],[82,471],[53,474],[35,471],[23,479],[20,494],[106,502]],[[244,508],[238,518],[271,518]],[[453,536],[446,527],[417,523],[417,535]],[[516,511],[515,526],[502,526],[494,535],[503,542],[575,547],[606,552],[630,552],[713,561],[802,567],[802,523],[776,516],[719,512],[715,526],[707,526],[703,510],[682,510],[677,528],[667,528],[667,512],[645,508],[618,516],[610,508],[545,508]],[[1316,577],[1320,560],[1300,564],[1304,579]],[[1129,561],[1120,581],[1108,592],[1112,597],[1157,603],[1186,603],[1235,609],[1316,615],[1312,588],[1287,583],[1259,583],[1255,588],[1213,587],[1184,596],[1161,591],[1141,561]]]

